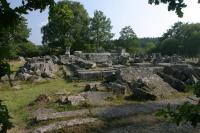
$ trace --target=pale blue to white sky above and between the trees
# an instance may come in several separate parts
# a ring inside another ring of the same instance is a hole
[[[16,0],[11,0],[17,4]],[[76,0],[84,5],[90,17],[95,10],[101,10],[111,19],[114,38],[124,26],[131,26],[138,37],[159,37],[175,22],[200,22],[200,4],[197,0],[186,0],[184,17],[179,18],[175,12],[168,12],[167,5],[149,5],[148,0]],[[48,10],[30,12],[25,16],[28,27],[32,29],[29,40],[37,45],[42,44],[41,27],[48,22]]]

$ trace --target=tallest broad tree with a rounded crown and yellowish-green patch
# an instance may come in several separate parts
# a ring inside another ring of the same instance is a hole
[[[89,17],[79,2],[61,1],[50,8],[49,22],[42,27],[43,44],[63,53],[65,47],[78,49],[87,39]]]

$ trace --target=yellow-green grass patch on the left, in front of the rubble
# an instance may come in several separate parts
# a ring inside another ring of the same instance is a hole
[[[11,132],[25,129],[29,113],[27,106],[40,94],[52,94],[57,91],[66,90],[72,94],[80,92],[83,88],[81,83],[67,83],[63,79],[54,79],[42,84],[23,84],[21,90],[14,91],[10,88],[0,92],[0,99],[7,105],[15,128]]]

